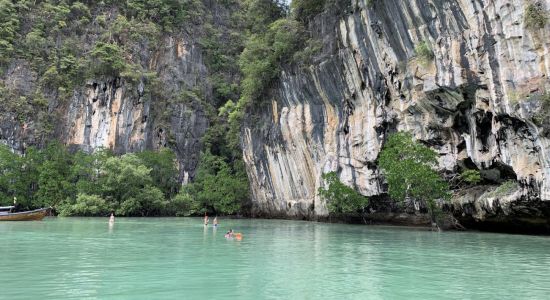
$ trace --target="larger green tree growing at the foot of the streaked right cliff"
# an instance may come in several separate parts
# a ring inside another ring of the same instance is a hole
[[[388,182],[388,192],[394,200],[413,198],[424,202],[435,221],[435,202],[448,200],[449,186],[434,170],[437,153],[416,142],[410,133],[391,135],[378,159]]]

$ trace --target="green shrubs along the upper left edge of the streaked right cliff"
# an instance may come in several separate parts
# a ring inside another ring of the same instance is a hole
[[[243,1],[247,13],[244,49],[239,57],[242,74],[238,101],[228,101],[222,108],[228,115],[228,133],[239,138],[247,109],[261,107],[269,88],[282,67],[310,62],[321,48],[321,41],[307,30],[312,18],[326,7],[324,0],[295,0],[291,9],[284,2],[271,0]]]

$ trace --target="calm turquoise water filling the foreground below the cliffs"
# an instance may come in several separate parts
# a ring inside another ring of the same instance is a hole
[[[550,237],[197,218],[4,222],[0,237],[1,299],[550,298]]]

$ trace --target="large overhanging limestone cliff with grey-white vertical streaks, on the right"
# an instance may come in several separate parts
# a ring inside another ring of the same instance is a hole
[[[388,204],[376,164],[388,135],[409,131],[448,178],[480,170],[487,184],[446,206],[462,221],[547,222],[550,27],[527,28],[530,3],[363,0],[317,16],[323,53],[285,68],[243,129],[253,213],[326,217],[317,190],[336,171],[371,197],[371,216],[414,222],[414,209]]]

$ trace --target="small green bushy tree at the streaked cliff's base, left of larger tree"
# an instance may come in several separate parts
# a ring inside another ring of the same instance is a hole
[[[322,178],[325,187],[320,187],[318,193],[327,202],[330,213],[349,214],[367,207],[368,198],[343,184],[335,172],[325,173]]]

